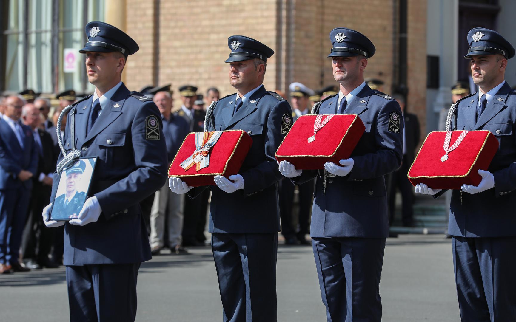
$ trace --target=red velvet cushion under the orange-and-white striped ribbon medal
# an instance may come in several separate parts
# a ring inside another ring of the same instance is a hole
[[[229,178],[238,174],[252,144],[253,139],[243,130],[222,131],[217,143],[209,151],[209,165],[199,171],[195,166],[185,171],[181,163],[196,150],[195,133],[190,133],[175,155],[168,176],[179,177],[191,187],[215,185],[213,177],[216,175]]]

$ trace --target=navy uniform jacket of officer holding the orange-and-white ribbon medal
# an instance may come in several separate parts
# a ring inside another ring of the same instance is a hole
[[[216,185],[211,187],[209,232],[278,232],[278,181],[282,176],[275,154],[292,126],[292,110],[286,100],[262,86],[233,115],[235,97],[236,93],[217,101],[213,112],[215,128],[210,123],[209,130],[242,129],[253,143],[239,172],[244,178],[244,189],[229,194]],[[193,189],[189,195],[196,196],[203,188],[206,187]]]

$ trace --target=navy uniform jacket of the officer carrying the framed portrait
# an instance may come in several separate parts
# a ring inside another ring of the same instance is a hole
[[[152,124],[157,123],[163,134],[161,115],[150,98],[130,92],[122,84],[86,135],[91,108],[92,95],[74,104],[64,141],[68,152],[74,116],[76,148],[83,157],[98,157],[88,196],[97,197],[102,214],[97,222],[85,226],[65,225],[64,263],[147,261],[151,253],[139,202],[163,187],[166,180],[165,138],[147,139],[148,133],[153,134],[148,131],[149,120],[154,120]],[[53,196],[57,183],[55,180]]]

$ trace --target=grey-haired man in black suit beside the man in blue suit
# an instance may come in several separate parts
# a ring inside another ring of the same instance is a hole
[[[53,173],[56,169],[57,156],[54,153],[50,134],[41,128],[43,118],[38,103],[45,103],[36,98],[34,104],[26,104],[22,109],[23,123],[33,131],[38,150],[38,169],[34,174],[33,191],[28,207],[27,223],[23,232],[22,253],[27,268],[56,268],[58,265],[49,259],[53,231],[46,229],[40,214],[49,204],[52,193]]]

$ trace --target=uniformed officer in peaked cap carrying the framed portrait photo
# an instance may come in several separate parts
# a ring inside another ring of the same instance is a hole
[[[104,22],[86,25],[86,74],[93,95],[68,112],[67,154],[98,157],[78,218],[65,225],[71,321],[133,321],[140,263],[151,259],[139,202],[166,181],[167,156],[156,105],[120,81],[127,56],[139,49],[123,31]],[[59,157],[59,162],[63,155]],[[72,161],[73,162],[73,161]],[[54,182],[53,197],[57,183]]]

